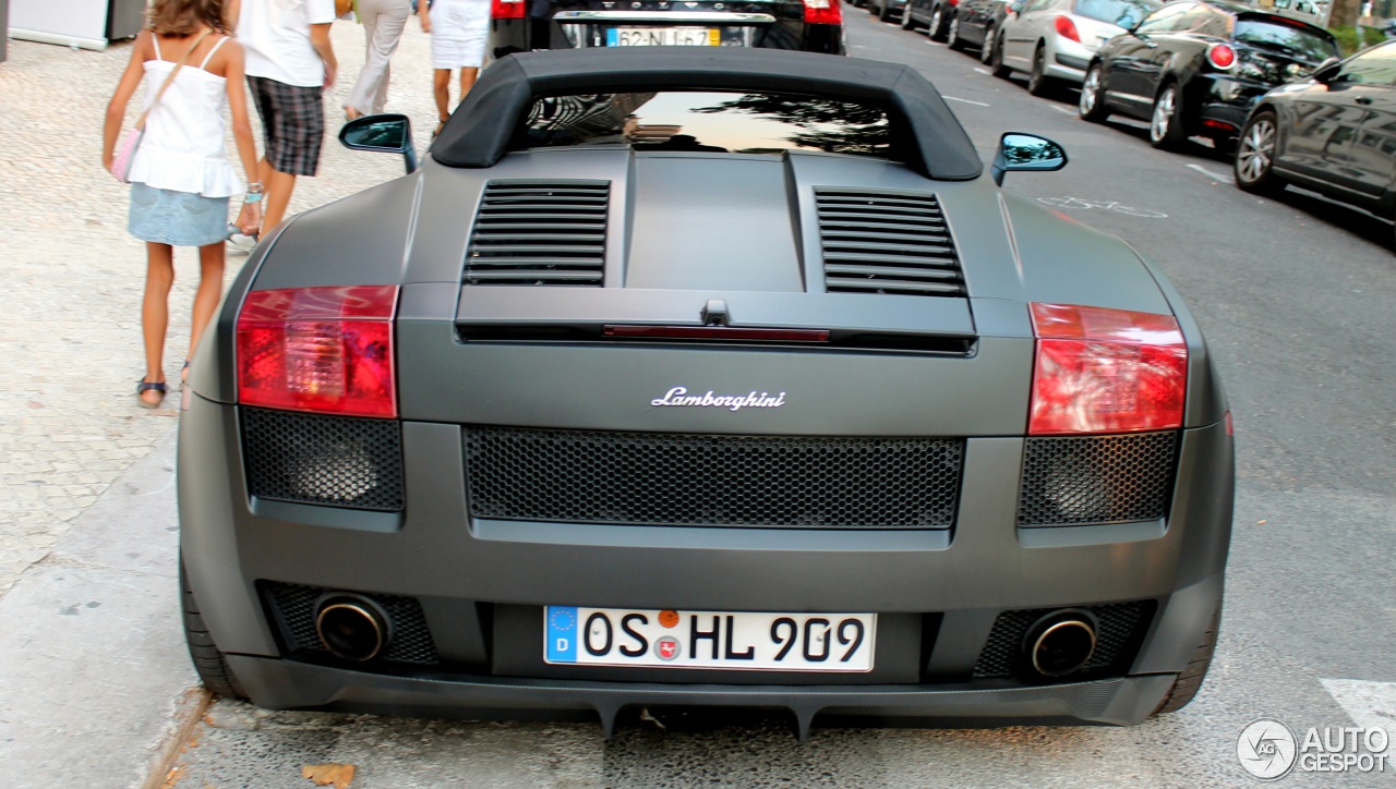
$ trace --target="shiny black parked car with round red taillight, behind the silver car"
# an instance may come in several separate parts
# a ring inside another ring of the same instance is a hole
[[[1215,0],[1180,0],[1100,47],[1081,88],[1081,117],[1143,118],[1157,148],[1205,135],[1233,144],[1270,88],[1337,57],[1321,28]]]

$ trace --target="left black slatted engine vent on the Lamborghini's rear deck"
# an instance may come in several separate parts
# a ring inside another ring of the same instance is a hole
[[[490,181],[466,284],[602,284],[610,181]]]

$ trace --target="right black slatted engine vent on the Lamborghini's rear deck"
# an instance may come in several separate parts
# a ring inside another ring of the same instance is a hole
[[[965,296],[935,195],[815,188],[829,293]]]

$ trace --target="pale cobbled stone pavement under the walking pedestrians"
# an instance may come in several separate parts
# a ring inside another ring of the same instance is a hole
[[[320,177],[297,185],[293,212],[402,173],[395,156],[335,141],[339,105],[363,63],[362,28],[342,20],[334,40],[341,77],[325,102],[325,155]],[[176,394],[154,411],[135,404],[145,248],[126,233],[127,187],[101,159],[106,105],[130,50],[11,40],[0,63],[0,597],[151,452],[177,413]],[[429,39],[415,20],[394,74],[388,109],[420,118],[424,151],[436,110]],[[137,114],[133,102],[127,123]],[[229,256],[229,280],[244,259]],[[165,357],[172,381],[188,343],[197,252],[177,251],[176,270]]]

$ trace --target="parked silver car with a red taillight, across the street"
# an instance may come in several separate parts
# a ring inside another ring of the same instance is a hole
[[[1079,85],[1100,46],[1159,6],[1157,0],[1027,0],[1004,22],[990,64],[997,77],[1026,71],[1034,96],[1058,79]]]

